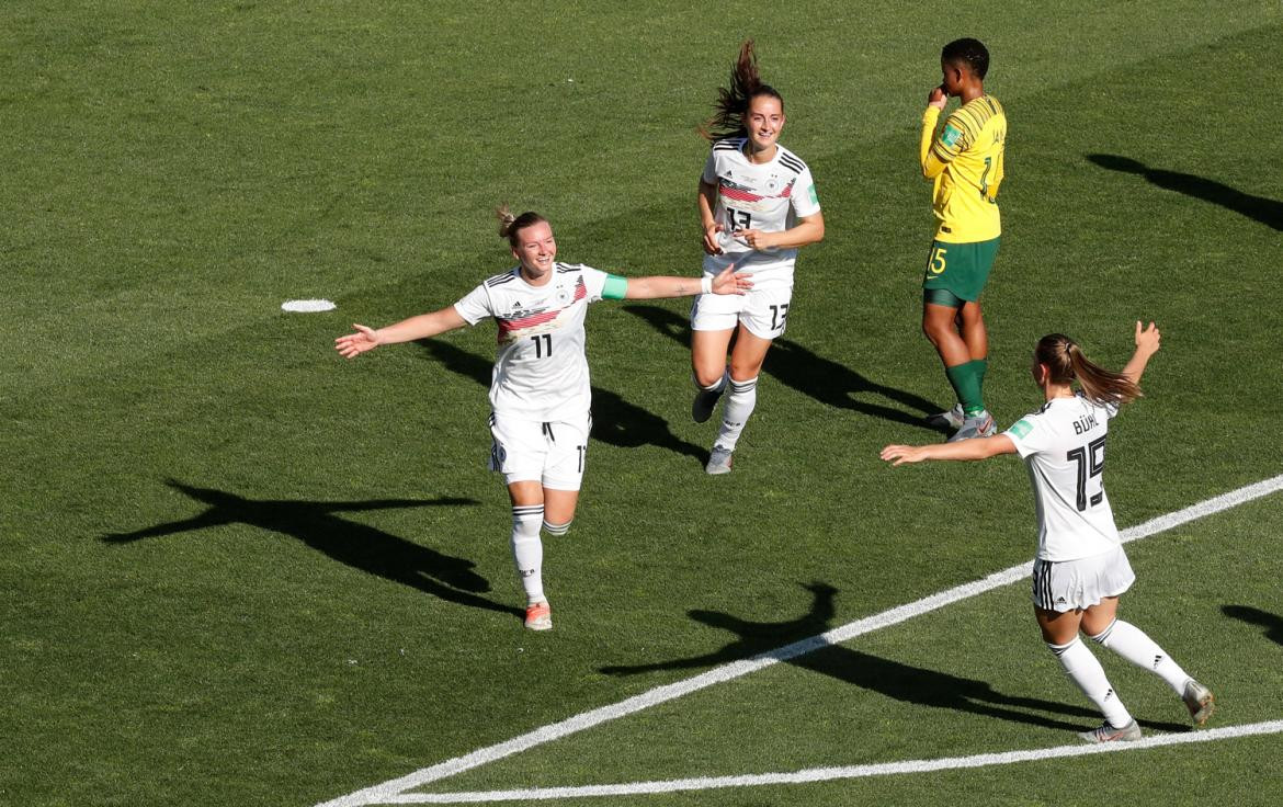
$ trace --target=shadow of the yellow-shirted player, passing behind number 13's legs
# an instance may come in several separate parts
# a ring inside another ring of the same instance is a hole
[[[658,305],[625,305],[624,310],[645,319],[654,330],[679,344],[686,348],[690,346],[689,321],[685,317],[680,317]],[[946,429],[937,429],[922,420],[925,416],[940,412],[948,407],[940,407],[912,393],[870,381],[845,364],[826,359],[790,339],[780,337],[771,344],[762,370],[771,373],[780,384],[792,386],[803,395],[810,395],[815,400],[830,407],[852,409],[896,423],[926,429],[928,431],[952,434]],[[869,395],[880,395],[888,400],[916,409],[921,414],[911,414],[894,407],[865,400]]]

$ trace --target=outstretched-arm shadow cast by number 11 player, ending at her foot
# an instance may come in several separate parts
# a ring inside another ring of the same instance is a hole
[[[248,499],[212,488],[195,488],[176,480],[174,490],[207,505],[203,513],[145,527],[133,532],[110,532],[109,544],[128,544],[144,538],[192,532],[205,527],[245,523],[295,538],[317,552],[353,568],[439,597],[446,602],[486,611],[525,616],[520,608],[491,602],[479,593],[490,582],[473,571],[476,563],[441,554],[375,527],[335,516],[336,512],[366,512],[394,507],[457,507],[475,499],[373,499],[370,502],[296,502]]]

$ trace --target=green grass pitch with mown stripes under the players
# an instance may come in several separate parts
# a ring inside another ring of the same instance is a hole
[[[957,36],[1010,118],[987,398],[1028,354],[1164,349],[1116,421],[1120,527],[1283,473],[1278,3],[577,0],[0,8],[0,804],[316,804],[1028,561],[1015,459],[890,468],[949,390],[919,331],[917,126]],[[828,237],[798,262],[735,472],[689,421],[688,303],[589,317],[594,443],[532,635],[485,470],[494,330],[335,336],[509,264],[695,275],[695,135],[739,42]],[[328,298],[337,310],[286,314]],[[1124,613],[1283,718],[1283,495],[1129,547]],[[411,790],[786,772],[1071,744],[1097,717],[1015,582]],[[1103,663],[1147,734],[1164,684]],[[1283,799],[1278,734],[575,804]]]

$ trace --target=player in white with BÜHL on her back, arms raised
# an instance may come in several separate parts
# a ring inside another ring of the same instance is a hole
[[[1135,581],[1105,495],[1105,435],[1119,405],[1141,395],[1141,375],[1159,350],[1159,328],[1135,323],[1135,353],[1115,373],[1087,361],[1060,334],[1043,336],[1034,350],[1034,381],[1046,403],[1002,432],[976,440],[910,446],[888,445],[881,458],[897,466],[924,459],[985,459],[1020,454],[1029,466],[1038,507],[1034,559],[1034,616],[1065,672],[1105,715],[1080,734],[1089,743],[1141,739],[1137,725],[1105,677],[1079,631],[1175,690],[1197,725],[1212,712],[1211,692],[1185,674],[1139,627],[1117,618],[1119,595]],[[1074,391],[1074,381],[1082,391]]]

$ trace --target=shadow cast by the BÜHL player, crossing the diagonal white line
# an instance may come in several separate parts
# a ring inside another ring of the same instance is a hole
[[[689,611],[688,613],[697,622],[738,634],[739,638],[722,649],[703,656],[648,665],[608,666],[602,667],[600,672],[606,675],[636,675],[656,670],[686,670],[766,654],[776,656],[780,661],[795,667],[820,672],[905,703],[948,708],[1067,731],[1082,731],[1100,724],[1100,713],[1085,707],[1041,698],[1007,695],[984,681],[913,667],[889,658],[879,658],[840,644],[828,644],[821,639],[816,639],[815,649],[808,652],[798,652],[798,649],[806,648],[795,648],[794,645],[781,648],[781,641],[799,643],[830,629],[829,622],[834,617],[833,598],[838,590],[822,582],[812,582],[803,588],[810,590],[815,598],[810,613],[803,617],[784,622],[751,622],[716,611]],[[790,647],[794,647],[792,652]],[[1057,720],[1047,715],[1048,712],[1082,718],[1087,722]],[[1188,730],[1188,726],[1180,724],[1146,720],[1139,722],[1146,727],[1162,731]]]

